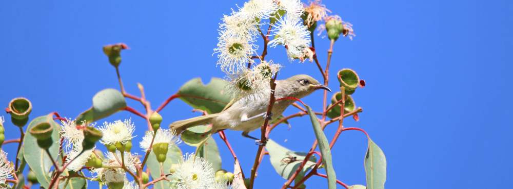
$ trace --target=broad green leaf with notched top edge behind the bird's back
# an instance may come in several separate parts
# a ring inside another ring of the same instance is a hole
[[[232,99],[227,91],[227,82],[220,78],[212,78],[207,85],[200,78],[185,83],[178,95],[188,105],[208,113],[218,113]]]

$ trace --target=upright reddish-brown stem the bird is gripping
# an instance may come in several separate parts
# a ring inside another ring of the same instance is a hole
[[[275,73],[274,77],[269,82],[269,85],[271,87],[271,95],[270,95],[270,98],[269,98],[269,105],[267,106],[266,117],[269,117],[271,115],[272,107],[274,106],[274,102],[276,101],[276,99],[274,98],[274,89],[276,89],[276,83],[274,81],[276,81],[276,77],[277,76],[278,76],[278,73]],[[263,142],[263,143],[265,143],[265,141],[267,140],[266,133],[267,133],[267,127],[268,127],[267,124],[268,123],[269,123],[269,119],[265,119],[264,125],[262,125],[262,128],[261,128],[261,139],[260,139],[260,141]],[[262,153],[263,150],[264,150],[264,145],[259,146],[258,151],[257,151],[257,157],[255,157],[255,161],[253,163],[253,168],[251,168],[251,177],[250,177],[250,182],[249,182],[249,189],[253,188],[253,184],[254,184],[254,181],[255,181],[255,175],[257,174],[257,169],[258,169],[258,166],[260,164],[260,159],[263,156],[263,153]]]

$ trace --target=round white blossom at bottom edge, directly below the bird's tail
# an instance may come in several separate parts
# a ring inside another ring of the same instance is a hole
[[[179,189],[207,189],[215,182],[212,165],[194,154],[183,156],[182,163],[173,173],[173,177],[175,179],[172,184]]]

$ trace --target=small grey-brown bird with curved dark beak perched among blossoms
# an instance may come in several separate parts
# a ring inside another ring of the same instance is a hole
[[[276,88],[274,90],[275,99],[285,97],[293,97],[301,99],[310,95],[317,89],[325,89],[331,92],[327,86],[319,83],[319,81],[308,75],[295,75],[284,80],[276,80]],[[235,131],[243,131],[242,135],[248,138],[258,140],[249,135],[249,132],[260,128],[265,119],[274,120],[281,115],[285,109],[293,104],[294,100],[281,100],[274,103],[271,117],[266,117],[267,107],[270,99],[270,86],[267,86],[268,92],[257,92],[252,95],[238,98],[234,100],[219,113],[192,117],[187,120],[173,122],[169,125],[170,129],[174,129],[180,134],[185,129],[193,126],[212,124],[211,132],[215,133],[220,130],[230,129]],[[273,119],[274,118],[274,119]]]

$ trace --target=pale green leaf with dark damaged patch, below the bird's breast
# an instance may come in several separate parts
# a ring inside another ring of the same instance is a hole
[[[272,167],[284,179],[289,179],[290,176],[294,174],[295,170],[301,166],[301,163],[307,155],[307,153],[291,151],[283,146],[280,146],[278,143],[271,139],[267,141],[265,149],[269,152],[269,160],[271,161]],[[291,161],[294,159],[295,161]],[[303,167],[303,170],[296,177],[296,180],[298,178],[303,178],[305,172],[315,166],[316,161],[317,160],[315,156],[310,156],[309,160],[306,162],[305,167]]]

